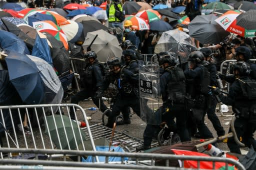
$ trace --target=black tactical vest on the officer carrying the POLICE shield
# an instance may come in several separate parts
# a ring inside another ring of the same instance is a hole
[[[167,84],[168,100],[172,103],[184,103],[185,95],[185,75],[179,67],[169,67],[166,69],[171,74],[171,79]]]

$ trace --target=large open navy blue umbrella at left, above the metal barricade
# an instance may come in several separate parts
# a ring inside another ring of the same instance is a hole
[[[5,58],[10,81],[22,101],[27,104],[39,104],[44,96],[40,70],[24,54],[11,51]]]

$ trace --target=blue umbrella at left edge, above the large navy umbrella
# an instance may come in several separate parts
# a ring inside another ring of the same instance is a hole
[[[6,51],[16,51],[20,54],[30,54],[23,40],[15,34],[0,30],[0,46]]]

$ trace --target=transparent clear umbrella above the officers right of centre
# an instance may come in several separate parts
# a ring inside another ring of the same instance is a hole
[[[154,53],[174,52],[177,60],[177,56],[180,56],[181,63],[184,63],[187,62],[188,55],[195,50],[196,47],[192,38],[185,32],[174,29],[162,33],[155,45]]]

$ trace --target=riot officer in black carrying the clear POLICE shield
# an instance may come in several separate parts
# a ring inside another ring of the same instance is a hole
[[[190,141],[186,127],[187,112],[184,106],[185,75],[181,68],[176,67],[176,58],[165,55],[161,59],[164,72],[160,76],[160,93],[163,105],[156,113],[162,114],[162,122],[166,122],[172,132],[177,133],[181,142]],[[155,114],[156,114],[155,113]],[[176,124],[173,121],[176,118]],[[136,151],[150,148],[154,131],[159,131],[159,126],[147,124],[143,134],[143,146]]]

